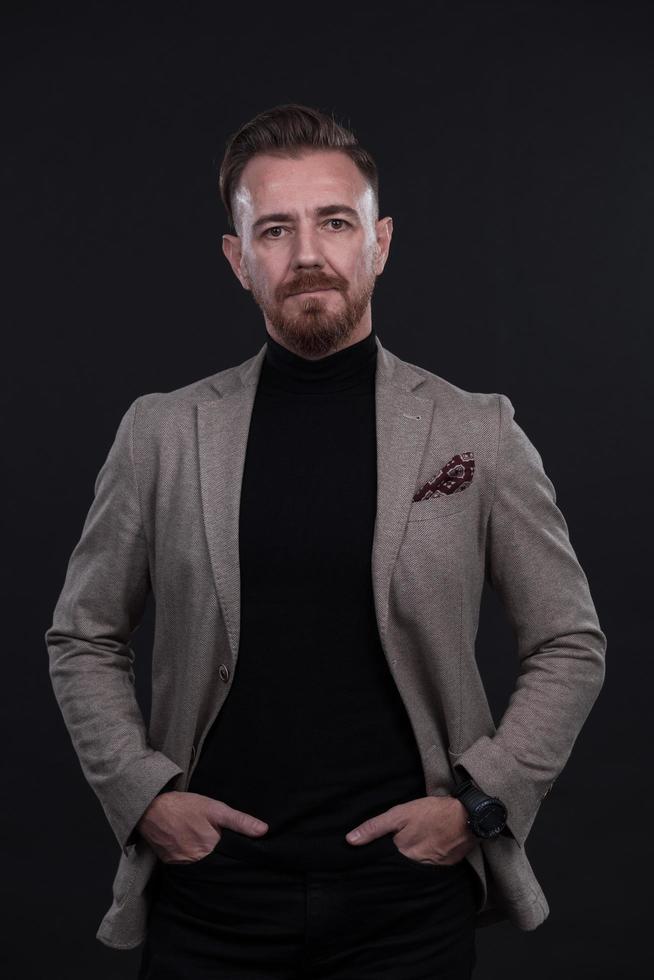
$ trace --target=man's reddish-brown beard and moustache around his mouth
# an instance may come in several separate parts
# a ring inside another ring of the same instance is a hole
[[[348,295],[347,282],[344,279],[327,278],[321,273],[305,273],[301,278],[276,290],[272,300],[264,290],[259,289],[252,277],[250,291],[284,346],[301,357],[316,358],[325,357],[332,351],[347,346],[345,342],[352,336],[366,312],[376,278],[374,270],[369,269],[365,282],[354,296]],[[307,296],[300,300],[296,312],[283,311],[287,296],[303,289],[320,288],[339,290],[344,299],[342,308],[332,312],[327,308],[329,300],[320,296]]]

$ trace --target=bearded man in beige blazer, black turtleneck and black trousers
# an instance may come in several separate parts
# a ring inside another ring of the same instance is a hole
[[[392,220],[370,155],[277,106],[229,141],[223,250],[263,312],[237,367],[137,398],[46,633],[121,845],[97,936],[140,977],[469,977],[548,915],[525,840],[606,637],[509,398],[372,329]],[[495,727],[484,579],[519,674]],[[152,711],[129,639],[156,598]]]

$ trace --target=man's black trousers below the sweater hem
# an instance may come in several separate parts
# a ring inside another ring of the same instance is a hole
[[[159,862],[138,980],[469,980],[478,887],[397,848],[347,871]]]

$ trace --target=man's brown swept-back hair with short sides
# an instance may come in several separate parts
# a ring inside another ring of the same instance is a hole
[[[299,157],[308,149],[346,153],[372,187],[379,213],[377,165],[354,133],[337,123],[333,115],[291,102],[260,112],[227,140],[218,186],[231,229],[236,231],[232,210],[234,191],[248,160],[258,153]]]

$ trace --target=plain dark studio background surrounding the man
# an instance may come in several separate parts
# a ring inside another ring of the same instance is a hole
[[[351,125],[380,168],[395,225],[373,297],[382,343],[511,398],[608,638],[605,686],[527,842],[550,916],[533,932],[480,930],[475,978],[642,976],[652,5],[2,10],[5,975],[136,975],[140,949],[95,939],[119,851],[43,635],[130,402],[265,341],[221,253],[213,160],[244,121],[297,101]],[[135,640],[146,717],[151,630],[150,609]],[[515,643],[492,592],[478,651],[499,720]]]

